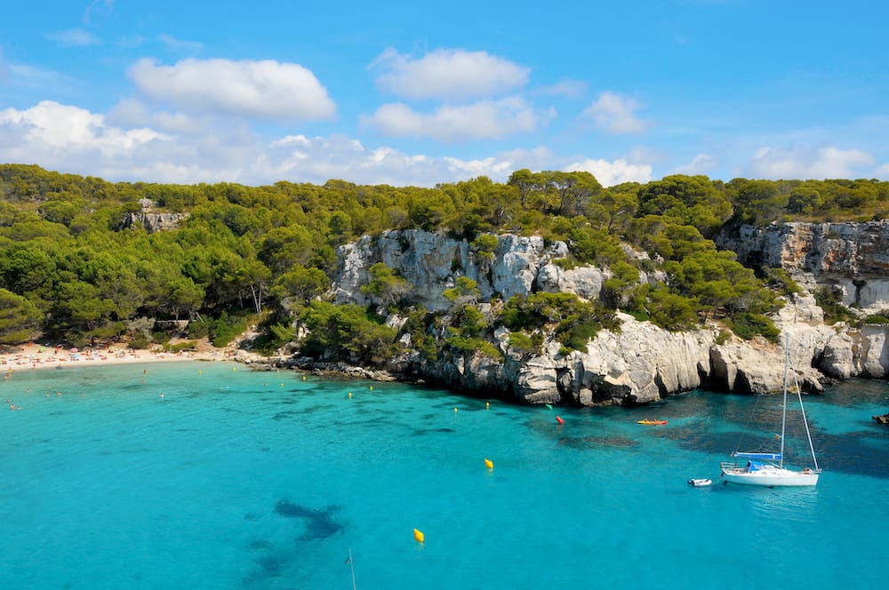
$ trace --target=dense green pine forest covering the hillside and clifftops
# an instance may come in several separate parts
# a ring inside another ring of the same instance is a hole
[[[149,233],[132,223],[144,212],[179,215],[174,227]],[[373,364],[399,346],[380,311],[406,317],[404,330],[424,355],[496,355],[486,344],[495,326],[509,327],[511,344],[533,351],[547,324],[570,350],[599,327],[619,329],[618,307],[669,330],[718,321],[742,338],[773,338],[768,315],[796,285],[780,270],[741,266],[733,252],[717,250],[714,236],[741,224],[887,217],[889,182],[875,179],[677,175],[602,187],[588,172],[519,170],[505,184],[479,177],[431,188],[345,180],[182,186],[7,164],[0,166],[0,345],[41,338],[169,346],[173,336],[187,339],[183,347],[204,337],[225,345],[250,323],[261,333],[254,345],[271,353],[294,339],[300,323],[310,331],[303,354]],[[338,246],[410,227],[465,239],[480,257],[492,255],[497,234],[561,240],[570,256],[560,264],[608,267],[612,278],[598,301],[537,293],[496,301],[486,314],[475,284],[458,281],[445,293],[453,300],[445,320],[412,307],[410,285],[377,265],[365,289],[379,306],[324,300]],[[628,244],[649,256],[630,256]],[[667,280],[641,283],[640,269]],[[444,336],[430,337],[430,328]]]

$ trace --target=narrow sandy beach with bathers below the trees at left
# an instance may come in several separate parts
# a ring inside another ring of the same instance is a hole
[[[252,356],[252,355],[250,355]],[[252,358],[260,360],[261,357]],[[123,345],[110,347],[61,348],[22,344],[0,352],[0,371],[36,371],[79,366],[105,366],[124,363],[171,363],[176,361],[228,361],[244,359],[244,351],[231,348],[199,347],[196,351],[166,353],[135,350]]]

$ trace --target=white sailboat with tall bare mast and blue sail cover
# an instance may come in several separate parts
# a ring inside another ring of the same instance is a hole
[[[821,469],[818,467],[818,459],[815,458],[815,449],[812,444],[812,435],[809,434],[809,423],[805,419],[803,409],[803,395],[799,388],[797,371],[793,371],[793,384],[799,400],[799,411],[805,426],[805,437],[809,442],[809,450],[812,453],[813,467],[806,467],[799,471],[784,466],[784,435],[787,428],[787,403],[789,389],[789,375],[792,370],[790,360],[789,336],[784,340],[784,401],[781,407],[781,449],[778,452],[739,452],[734,451],[732,457],[746,458],[747,463],[739,464],[738,461],[723,461],[719,464],[725,482],[741,483],[743,485],[758,485],[766,487],[776,486],[813,486],[818,483],[818,475]]]

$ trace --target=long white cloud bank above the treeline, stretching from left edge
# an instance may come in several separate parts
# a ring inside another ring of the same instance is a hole
[[[108,116],[44,101],[0,111],[0,162],[37,163],[112,181],[248,185],[348,179],[428,187],[481,174],[505,181],[512,170],[512,159],[501,155],[463,160],[407,154],[387,146],[366,148],[343,135],[267,140],[246,125],[218,123],[151,112],[135,100],[119,103]]]

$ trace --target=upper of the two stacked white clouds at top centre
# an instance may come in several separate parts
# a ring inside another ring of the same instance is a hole
[[[371,64],[381,68],[380,88],[406,99],[471,100],[496,96],[528,83],[530,70],[487,52],[439,49],[420,59],[393,49]]]

